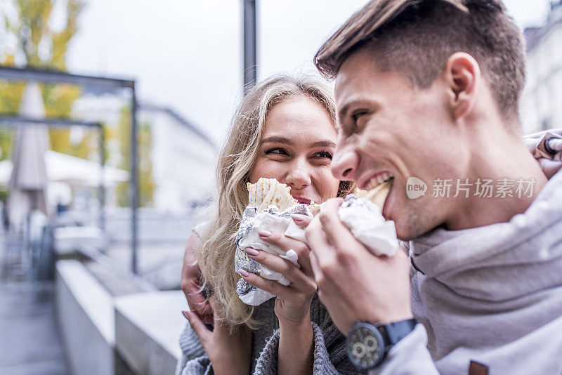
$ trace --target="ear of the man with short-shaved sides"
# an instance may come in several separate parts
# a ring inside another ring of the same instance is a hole
[[[445,81],[450,93],[449,105],[455,119],[466,116],[476,104],[481,84],[478,62],[468,53],[453,53],[445,67]]]

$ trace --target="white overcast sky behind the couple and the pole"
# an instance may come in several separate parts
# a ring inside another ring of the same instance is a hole
[[[1,0],[0,0],[1,1]],[[548,0],[504,1],[520,27]],[[258,0],[259,79],[315,73],[312,58],[362,0]],[[89,0],[70,72],[134,78],[144,102],[172,107],[219,140],[242,95],[242,0]]]

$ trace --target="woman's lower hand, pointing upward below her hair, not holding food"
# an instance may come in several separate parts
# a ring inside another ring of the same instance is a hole
[[[211,301],[211,307],[214,308],[213,297],[209,298],[209,301]],[[199,336],[216,375],[249,374],[251,331],[247,327],[237,327],[236,331],[230,334],[228,325],[221,322],[221,319],[216,317],[215,314],[214,329],[211,331],[205,327],[205,324],[195,313],[184,311],[183,315],[189,320],[192,329]]]

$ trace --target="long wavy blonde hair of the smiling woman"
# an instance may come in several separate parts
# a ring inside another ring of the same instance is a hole
[[[246,183],[256,163],[263,126],[268,112],[286,98],[303,96],[315,100],[329,113],[334,127],[336,108],[332,89],[310,76],[275,76],[252,88],[233,117],[216,169],[216,198],[209,207],[207,225],[197,251],[204,289],[212,289],[214,308],[231,327],[246,324],[255,329],[254,307],[244,304],[236,293],[240,278],[234,270],[235,233],[248,204]],[[351,192],[355,184],[342,181],[338,196]]]

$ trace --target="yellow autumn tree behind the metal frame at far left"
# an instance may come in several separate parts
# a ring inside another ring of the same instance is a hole
[[[65,23],[62,29],[54,29],[51,18],[58,1],[62,0],[5,1],[5,9],[9,6],[12,12],[1,15],[0,27],[4,27],[6,37],[0,44],[0,64],[67,70],[67,48],[78,30],[77,18],[84,3],[65,0]],[[0,80],[0,112],[18,113],[24,90],[25,83]],[[70,117],[72,103],[81,95],[78,86],[69,84],[42,84],[41,93],[47,117]],[[86,132],[78,143],[72,143],[70,129],[51,129],[49,137],[53,150],[89,157],[97,135]],[[8,157],[10,147],[10,132],[0,129],[0,160]]]

